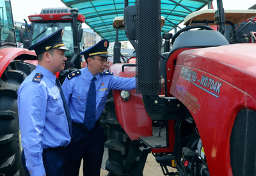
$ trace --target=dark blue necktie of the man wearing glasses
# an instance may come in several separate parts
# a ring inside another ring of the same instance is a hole
[[[96,114],[96,88],[95,77],[92,78],[92,82],[89,87],[86,111],[84,115],[84,127],[90,131],[95,126],[95,114]]]

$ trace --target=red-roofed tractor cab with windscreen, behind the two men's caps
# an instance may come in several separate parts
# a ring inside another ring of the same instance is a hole
[[[20,42],[23,43],[23,48],[28,48],[61,27],[64,29],[63,43],[70,50],[65,52],[68,59],[65,70],[60,71],[60,75],[59,73],[57,75],[61,83],[70,71],[86,66],[79,55],[79,52],[85,49],[82,28],[85,17],[78,11],[76,8],[43,8],[40,14],[28,16],[31,24],[28,26],[25,20],[25,31],[19,29]],[[33,62],[33,64],[37,64],[37,62]]]

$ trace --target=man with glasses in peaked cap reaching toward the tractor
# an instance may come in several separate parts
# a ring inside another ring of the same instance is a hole
[[[86,68],[70,73],[62,85],[73,125],[73,138],[65,147],[68,175],[79,175],[81,159],[84,175],[100,175],[104,152],[104,131],[99,123],[108,92],[111,89],[135,89],[135,78],[116,77],[104,69],[108,62],[109,41],[101,40],[84,50]]]

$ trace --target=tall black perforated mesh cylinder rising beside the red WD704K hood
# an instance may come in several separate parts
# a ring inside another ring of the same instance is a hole
[[[161,94],[161,1],[136,0],[136,94]]]

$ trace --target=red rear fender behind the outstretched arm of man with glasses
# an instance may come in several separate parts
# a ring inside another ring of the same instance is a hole
[[[123,64],[113,64],[110,67],[111,72],[117,77],[134,77],[135,67],[125,67],[122,71]],[[142,96],[136,94],[135,89],[130,92],[130,99],[124,102],[118,90],[113,90],[113,98],[116,108],[116,117],[122,128],[131,138],[138,140],[140,136],[152,136],[152,120],[144,108],[141,100]]]

